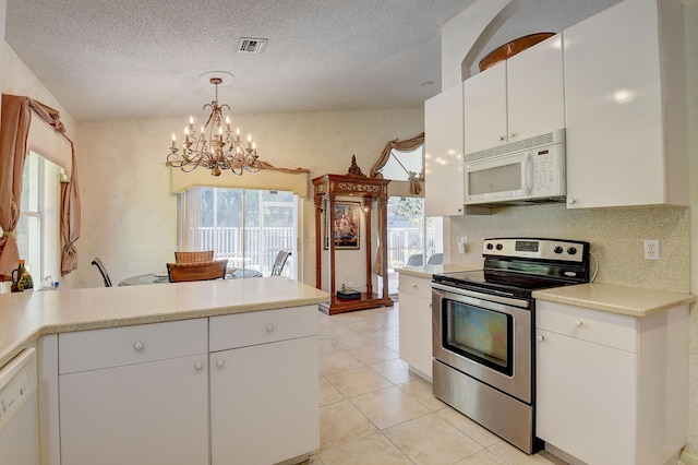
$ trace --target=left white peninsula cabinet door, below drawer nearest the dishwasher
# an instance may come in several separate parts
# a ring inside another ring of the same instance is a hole
[[[208,463],[206,355],[59,377],[61,463]]]

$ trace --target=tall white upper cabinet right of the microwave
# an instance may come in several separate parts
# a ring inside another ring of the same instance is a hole
[[[564,35],[568,206],[687,205],[679,2],[626,0]]]

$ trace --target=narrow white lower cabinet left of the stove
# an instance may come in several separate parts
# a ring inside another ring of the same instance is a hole
[[[431,279],[400,274],[400,359],[410,370],[432,381]]]

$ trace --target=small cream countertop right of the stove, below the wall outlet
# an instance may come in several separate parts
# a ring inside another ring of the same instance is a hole
[[[650,317],[696,301],[693,294],[597,283],[534,290],[533,298],[636,318]]]

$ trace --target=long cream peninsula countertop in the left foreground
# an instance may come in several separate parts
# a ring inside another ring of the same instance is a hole
[[[329,295],[287,277],[0,295],[0,367],[45,334],[317,305]]]

